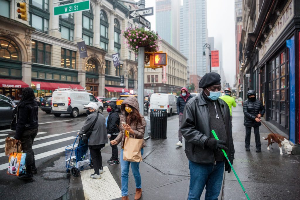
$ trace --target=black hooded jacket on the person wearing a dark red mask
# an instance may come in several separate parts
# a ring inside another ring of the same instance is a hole
[[[120,117],[119,117],[119,109],[114,102],[110,102],[107,106],[112,107],[112,111],[110,111],[110,114],[108,115],[107,119],[107,134],[110,135],[118,135],[119,130],[119,124],[120,124]]]

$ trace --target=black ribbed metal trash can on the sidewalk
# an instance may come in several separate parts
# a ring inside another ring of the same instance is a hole
[[[151,139],[167,139],[167,110],[151,110]]]

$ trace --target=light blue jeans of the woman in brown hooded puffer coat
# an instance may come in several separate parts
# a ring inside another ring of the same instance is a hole
[[[128,173],[129,165],[131,164],[132,174],[134,175],[135,186],[136,188],[142,188],[142,180],[140,175],[140,163],[128,162],[123,160],[123,149],[121,149],[120,162],[121,162],[121,184],[122,184],[122,196],[128,195]],[[143,156],[144,149],[141,149],[141,154]]]

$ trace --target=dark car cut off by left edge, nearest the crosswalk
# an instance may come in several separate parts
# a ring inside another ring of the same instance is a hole
[[[14,103],[9,103],[0,99],[0,127],[8,126],[13,120],[13,110],[15,109]]]

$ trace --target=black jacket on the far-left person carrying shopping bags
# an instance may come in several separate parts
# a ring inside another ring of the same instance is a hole
[[[29,99],[18,104],[17,124],[14,138],[20,139],[24,130],[32,130],[38,127],[38,104],[35,99]],[[14,121],[12,123],[15,123]]]

